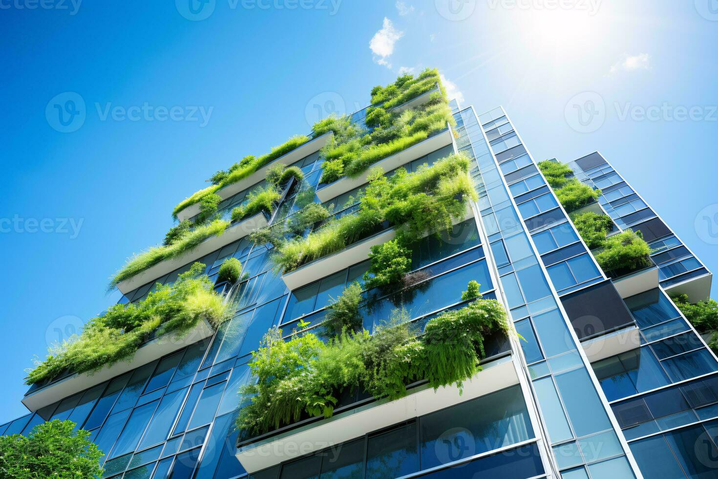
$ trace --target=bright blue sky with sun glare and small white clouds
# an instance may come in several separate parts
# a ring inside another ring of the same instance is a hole
[[[599,150],[718,270],[712,0],[189,1],[0,1],[0,422],[175,204],[401,69],[503,105],[536,159]]]

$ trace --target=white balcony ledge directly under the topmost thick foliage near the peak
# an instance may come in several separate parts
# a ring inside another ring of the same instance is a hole
[[[401,152],[391,155],[391,157],[381,159],[380,161],[368,167],[366,171],[363,172],[357,178],[342,177],[340,180],[325,185],[325,187],[322,187],[317,190],[317,197],[319,197],[322,203],[325,203],[332,198],[341,195],[342,193],[351,191],[354,188],[360,187],[361,185],[365,184],[366,178],[369,175],[370,170],[374,167],[381,167],[384,172],[390,172],[392,169],[401,167],[404,164],[412,162],[415,159],[419,159],[426,154],[436,151],[439,148],[443,148],[449,144],[452,144],[453,140],[454,136],[452,135],[452,131],[450,128],[447,128],[439,134],[430,136],[429,138],[425,139],[424,141],[420,141],[414,146],[411,146],[407,149],[403,149],[401,150]]]

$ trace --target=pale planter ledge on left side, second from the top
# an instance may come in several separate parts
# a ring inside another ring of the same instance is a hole
[[[197,259],[202,258],[205,254],[210,254],[212,251],[218,250],[223,246],[227,246],[233,241],[244,238],[249,233],[264,228],[267,225],[267,219],[263,212],[259,212],[254,216],[242,220],[239,223],[229,225],[228,228],[219,236],[212,236],[202,241],[197,248],[187,251],[182,256],[167,261],[162,261],[159,264],[155,264],[146,271],[136,274],[129,279],[125,279],[117,284],[117,288],[126,294],[131,292],[133,289],[139,288],[144,284],[147,284],[155,279],[161,278],[165,274],[171,273],[177,268],[181,268],[186,264],[191,263]]]

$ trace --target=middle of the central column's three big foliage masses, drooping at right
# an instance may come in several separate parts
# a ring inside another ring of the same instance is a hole
[[[468,170],[464,154],[452,154],[414,173],[399,169],[391,177],[374,169],[356,213],[331,220],[307,236],[281,241],[272,260],[284,272],[292,271],[376,233],[385,220],[405,225],[402,246],[428,233],[448,231],[453,220],[464,215],[467,201],[477,198]]]

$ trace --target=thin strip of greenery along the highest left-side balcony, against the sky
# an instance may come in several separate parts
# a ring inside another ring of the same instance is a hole
[[[292,138],[285,141],[283,144],[272,148],[269,153],[264,154],[261,157],[255,158],[251,155],[244,157],[241,162],[233,164],[226,172],[215,173],[215,175],[211,178],[211,181],[213,182],[212,186],[206,187],[204,190],[197,191],[192,196],[182,200],[179,205],[174,207],[172,215],[174,218],[177,218],[177,214],[180,213],[180,211],[190,205],[199,203],[203,197],[212,195],[225,186],[244,180],[261,167],[264,167],[266,164],[273,162],[275,159],[301,147],[303,144],[307,143],[307,141],[309,141],[309,136],[292,136]]]

